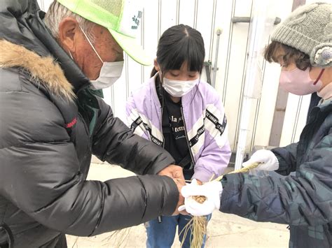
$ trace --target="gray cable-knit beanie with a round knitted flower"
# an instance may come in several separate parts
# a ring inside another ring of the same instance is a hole
[[[301,6],[284,20],[271,37],[310,56],[312,66],[332,66],[332,4]]]

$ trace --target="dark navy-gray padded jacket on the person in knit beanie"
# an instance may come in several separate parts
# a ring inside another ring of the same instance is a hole
[[[289,224],[289,247],[331,248],[332,101],[312,109],[298,143],[272,152],[284,176],[226,175],[221,211]]]

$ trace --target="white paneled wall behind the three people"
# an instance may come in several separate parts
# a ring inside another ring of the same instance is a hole
[[[272,1],[272,0],[261,0]],[[310,0],[312,1],[312,0]],[[52,0],[39,0],[47,9]],[[292,0],[279,0],[275,15],[284,18],[291,12]],[[248,44],[249,23],[233,24],[233,16],[251,15],[252,0],[151,0],[146,1],[138,41],[153,54],[158,38],[165,29],[174,24],[188,24],[198,29],[204,38],[206,61],[214,61],[216,28],[221,27],[219,45],[219,71],[216,75],[216,90],[226,108],[229,124],[230,145],[236,149],[237,132],[240,122],[240,107],[244,87],[244,71]],[[268,36],[265,43],[268,43]],[[140,66],[125,56],[125,69],[116,85],[105,89],[105,101],[120,118],[125,117],[125,101],[135,88],[148,80],[151,66]],[[280,67],[262,62],[263,89],[261,99],[254,101],[251,112],[247,151],[254,145],[268,145],[275,109]],[[204,72],[205,73],[205,72]],[[203,75],[205,78],[205,75]],[[310,97],[289,96],[286,108],[281,145],[298,140],[305,124]]]

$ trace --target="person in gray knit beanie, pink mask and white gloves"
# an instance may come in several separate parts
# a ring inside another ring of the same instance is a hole
[[[242,164],[258,163],[254,170],[274,170],[282,176],[228,174],[221,189],[216,181],[188,184],[181,189],[187,212],[207,214],[206,206],[220,205],[221,212],[288,224],[289,247],[332,247],[331,10],[331,3],[296,9],[277,27],[265,49],[265,59],[282,66],[279,82],[284,90],[298,95],[317,92],[322,98],[311,110],[298,143],[258,150]],[[205,203],[190,200],[198,194],[207,197]],[[279,244],[271,244],[275,245]]]

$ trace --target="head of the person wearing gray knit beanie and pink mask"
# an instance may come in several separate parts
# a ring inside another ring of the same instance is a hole
[[[332,5],[302,6],[282,22],[265,49],[265,59],[282,66],[280,87],[297,95],[332,98]],[[311,80],[310,80],[311,79]]]

